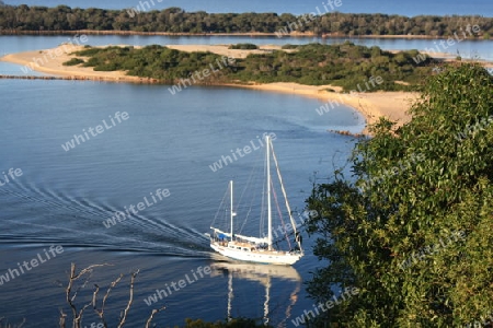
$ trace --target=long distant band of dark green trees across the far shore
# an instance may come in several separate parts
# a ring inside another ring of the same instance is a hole
[[[140,1],[146,2],[146,1]],[[147,1],[148,2],[148,1]],[[310,10],[316,15],[308,15]],[[406,17],[387,14],[351,14],[331,12],[317,14],[307,8],[306,15],[276,13],[206,13],[185,12],[180,8],[152,10],[152,7],[126,10],[0,5],[0,33],[26,31],[134,31],[165,33],[310,33],[332,36],[414,35],[448,37],[468,26],[479,32],[469,37],[490,38],[493,19],[474,16]]]

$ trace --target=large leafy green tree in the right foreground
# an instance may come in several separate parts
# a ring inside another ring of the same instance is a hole
[[[321,215],[309,231],[329,262],[309,292],[324,302],[340,288],[362,291],[316,326],[485,327],[493,318],[492,90],[479,66],[444,67],[411,122],[394,129],[381,119],[358,142],[353,179],[336,173],[316,186],[308,203]]]

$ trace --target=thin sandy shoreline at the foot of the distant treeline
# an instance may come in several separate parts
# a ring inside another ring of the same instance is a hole
[[[59,31],[18,31],[18,30],[2,30],[0,35],[140,35],[140,36],[250,36],[250,37],[272,37],[276,36],[275,32],[238,32],[238,33],[188,33],[188,32],[139,32],[139,31],[116,31],[116,30],[59,30]],[[449,36],[433,36],[433,35],[408,35],[408,34],[392,34],[392,35],[345,35],[345,34],[317,34],[313,32],[293,32],[289,35],[283,35],[278,38],[297,38],[297,37],[321,37],[321,38],[405,38],[405,39],[447,39]],[[469,40],[492,40],[493,37],[470,37]]]

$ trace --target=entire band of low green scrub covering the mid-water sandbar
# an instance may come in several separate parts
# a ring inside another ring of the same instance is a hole
[[[90,56],[84,66],[94,70],[126,70],[129,75],[174,83],[213,67],[217,73],[197,83],[221,82],[298,82],[308,85],[333,84],[346,91],[412,90],[432,72],[431,59],[416,65],[416,50],[392,54],[379,47],[311,44],[296,51],[275,50],[249,55],[228,66],[223,57],[210,52],[184,52],[162,46],[92,48],[76,52]],[[219,63],[218,63],[219,61]],[[365,84],[371,77],[381,83]],[[401,81],[405,83],[394,83]],[[409,84],[409,85],[406,85]],[[358,87],[359,85],[359,87]],[[369,86],[369,87],[368,87]]]

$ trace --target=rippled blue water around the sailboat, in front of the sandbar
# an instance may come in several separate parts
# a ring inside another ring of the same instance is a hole
[[[9,38],[9,49],[23,50],[31,40]],[[42,40],[35,46],[51,46],[50,38]],[[167,309],[154,320],[160,327],[182,325],[187,317],[223,319],[228,313],[293,327],[290,319],[311,308],[302,282],[319,262],[308,236],[307,256],[280,272],[223,263],[210,251],[204,233],[228,181],[237,181],[240,195],[261,153],[217,172],[209,165],[274,132],[290,203],[301,211],[312,183],[345,165],[354,145],[352,138],[326,130],[359,131],[358,113],[339,107],[320,116],[320,101],[251,90],[188,87],[173,96],[164,85],[82,81],[0,80],[0,173],[22,169],[22,176],[0,186],[0,274],[50,245],[64,247],[61,255],[0,285],[0,314],[9,323],[25,318],[24,327],[55,327],[58,308],[69,311],[60,283],[67,283],[71,262],[112,265],[95,270],[78,305],[90,300],[93,283],[105,289],[126,274],[108,301],[112,323],[126,305],[128,274],[140,269],[126,327],[142,327],[151,309],[162,306]],[[127,112],[128,120],[68,152],[61,148],[83,129],[110,122],[116,112]],[[115,211],[164,188],[168,198],[115,226],[103,225]],[[246,225],[245,233],[257,231]],[[215,267],[213,274],[146,305],[156,290],[206,266]],[[92,312],[84,318],[88,327],[96,321]]]

